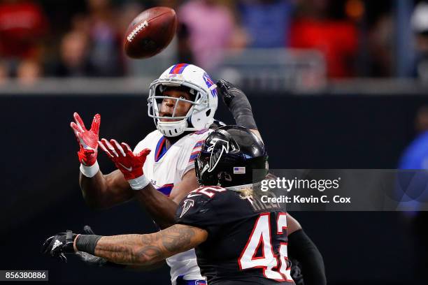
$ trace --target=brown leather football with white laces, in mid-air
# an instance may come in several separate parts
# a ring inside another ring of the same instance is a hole
[[[176,11],[153,7],[143,11],[129,24],[124,37],[125,53],[134,59],[152,57],[171,43],[177,29]]]

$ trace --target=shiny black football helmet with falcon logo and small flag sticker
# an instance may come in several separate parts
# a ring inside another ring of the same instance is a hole
[[[233,187],[264,180],[267,159],[262,140],[252,131],[222,126],[206,138],[194,163],[199,184]]]

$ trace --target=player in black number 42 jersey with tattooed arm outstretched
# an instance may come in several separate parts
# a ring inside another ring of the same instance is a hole
[[[196,248],[208,284],[294,284],[287,259],[287,213],[252,207],[253,182],[264,180],[267,154],[262,140],[241,126],[211,133],[197,158],[202,186],[176,212],[177,224],[148,235],[76,235],[46,240],[52,256],[85,251],[113,263],[151,265]],[[252,177],[253,169],[262,169]],[[142,189],[144,191],[144,189]],[[320,284],[323,281],[320,280]]]

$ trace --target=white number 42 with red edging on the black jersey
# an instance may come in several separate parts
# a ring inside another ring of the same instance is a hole
[[[250,238],[238,259],[239,268],[241,270],[263,268],[263,275],[266,278],[276,281],[292,281],[291,268],[287,268],[287,243],[280,243],[279,256],[273,254],[269,215],[270,213],[262,213],[255,222]],[[287,215],[285,213],[278,214],[276,224],[278,228],[276,234],[283,234],[283,229],[287,228]],[[255,256],[260,247],[262,248],[262,256]],[[280,264],[279,269],[274,270],[274,268],[278,268],[278,263]]]

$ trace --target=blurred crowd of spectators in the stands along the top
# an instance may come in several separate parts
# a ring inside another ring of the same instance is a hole
[[[152,6],[178,13],[178,35],[166,52],[171,61],[207,71],[222,65],[227,49],[303,48],[321,52],[328,78],[397,73],[392,0],[2,0],[0,83],[140,75],[122,52],[122,38],[129,22]],[[417,35],[415,62],[426,54],[427,6],[415,3],[408,15],[408,32]],[[142,69],[150,73],[147,62]],[[415,63],[406,74],[422,76],[423,66]]]

